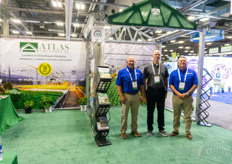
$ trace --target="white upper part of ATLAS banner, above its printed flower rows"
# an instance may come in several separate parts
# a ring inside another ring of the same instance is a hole
[[[85,49],[85,42],[0,39],[1,77],[3,81],[31,80],[33,84],[43,84],[44,79],[84,81]]]

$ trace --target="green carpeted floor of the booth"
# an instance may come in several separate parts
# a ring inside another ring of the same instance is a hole
[[[20,113],[25,119],[2,135],[3,151],[16,153],[19,164],[232,163],[232,131],[193,123],[193,140],[188,140],[182,120],[179,136],[162,137],[155,123],[154,136],[147,137],[146,108],[140,107],[138,131],[143,136],[136,138],[128,134],[128,139],[123,140],[121,108],[111,108],[110,114],[112,145],[98,147],[86,112]],[[165,111],[168,133],[172,131],[172,116],[172,112]]]

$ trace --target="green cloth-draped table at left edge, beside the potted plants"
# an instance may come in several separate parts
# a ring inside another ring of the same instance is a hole
[[[0,134],[23,120],[15,110],[10,96],[0,99]]]

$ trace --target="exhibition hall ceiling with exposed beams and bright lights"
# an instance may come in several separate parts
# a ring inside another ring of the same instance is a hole
[[[211,47],[232,44],[230,0],[162,1],[181,11],[186,17],[192,16],[198,29],[224,30],[223,40],[206,44],[206,54]],[[164,60],[171,52],[177,52],[179,55],[198,53],[199,43],[190,42],[189,33],[192,31],[176,32],[176,29],[158,27],[120,27],[107,23],[109,15],[138,2],[140,0],[0,0],[0,33],[1,36],[16,38],[85,40],[84,31],[93,23],[104,27],[106,35],[111,36],[106,37],[107,42],[162,42]],[[123,30],[125,32],[122,33]],[[111,35],[113,32],[118,33],[121,38]],[[135,36],[133,40],[129,33]]]

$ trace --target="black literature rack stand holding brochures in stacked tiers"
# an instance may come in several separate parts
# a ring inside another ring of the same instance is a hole
[[[110,109],[107,95],[107,90],[111,84],[109,67],[98,66],[95,80],[97,85],[94,89],[93,109],[89,110],[90,125],[98,146],[111,145],[111,142],[106,139],[109,134],[109,125],[106,116]]]

